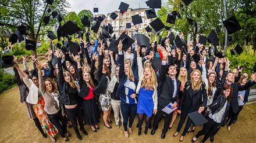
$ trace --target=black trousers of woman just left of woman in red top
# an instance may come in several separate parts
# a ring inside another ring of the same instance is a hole
[[[75,107],[72,109],[65,108],[65,112],[67,115],[67,118],[69,118],[70,122],[72,123],[73,129],[76,132],[76,134],[79,134],[79,130],[77,127],[77,120],[80,126],[80,130],[84,130],[84,124],[83,124],[83,113],[79,111],[79,107]]]

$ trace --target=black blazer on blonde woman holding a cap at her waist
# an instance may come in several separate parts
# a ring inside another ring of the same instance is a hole
[[[187,112],[189,112],[189,108],[191,104],[193,106],[194,111],[197,111],[199,107],[205,107],[207,105],[207,91],[204,83],[202,83],[199,90],[194,91],[194,95],[192,95],[192,83],[191,81],[187,81],[185,83],[182,99],[180,100],[180,105],[178,107],[179,110],[182,111],[183,116],[187,116]]]

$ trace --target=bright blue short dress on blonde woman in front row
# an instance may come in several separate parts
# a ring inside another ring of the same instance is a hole
[[[154,89],[145,90],[145,87],[140,89],[138,92],[137,113],[145,113],[149,117],[152,116],[154,109],[153,93]]]

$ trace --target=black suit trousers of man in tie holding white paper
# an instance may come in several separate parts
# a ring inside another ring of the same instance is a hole
[[[157,114],[155,115],[155,119],[154,119],[154,122],[153,122],[153,130],[157,130],[158,129],[158,123],[160,122],[163,114],[165,112],[162,111],[163,107],[161,106],[158,106],[158,109],[157,109]],[[170,124],[170,118],[172,117],[172,113],[165,113],[165,123],[163,124],[163,133],[166,133],[168,131],[168,127],[169,127],[169,124]]]

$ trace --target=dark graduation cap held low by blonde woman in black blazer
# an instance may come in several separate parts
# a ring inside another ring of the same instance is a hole
[[[192,120],[195,126],[200,126],[201,124],[205,124],[208,122],[207,119],[198,111],[191,112],[188,114],[189,118]]]

